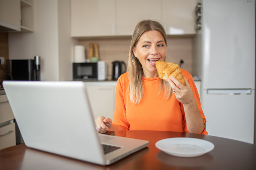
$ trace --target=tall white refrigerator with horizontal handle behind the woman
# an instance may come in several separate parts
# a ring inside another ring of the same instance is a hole
[[[196,8],[201,30],[193,39],[192,74],[202,81],[209,135],[249,143],[254,138],[254,9],[254,0],[202,0]]]

